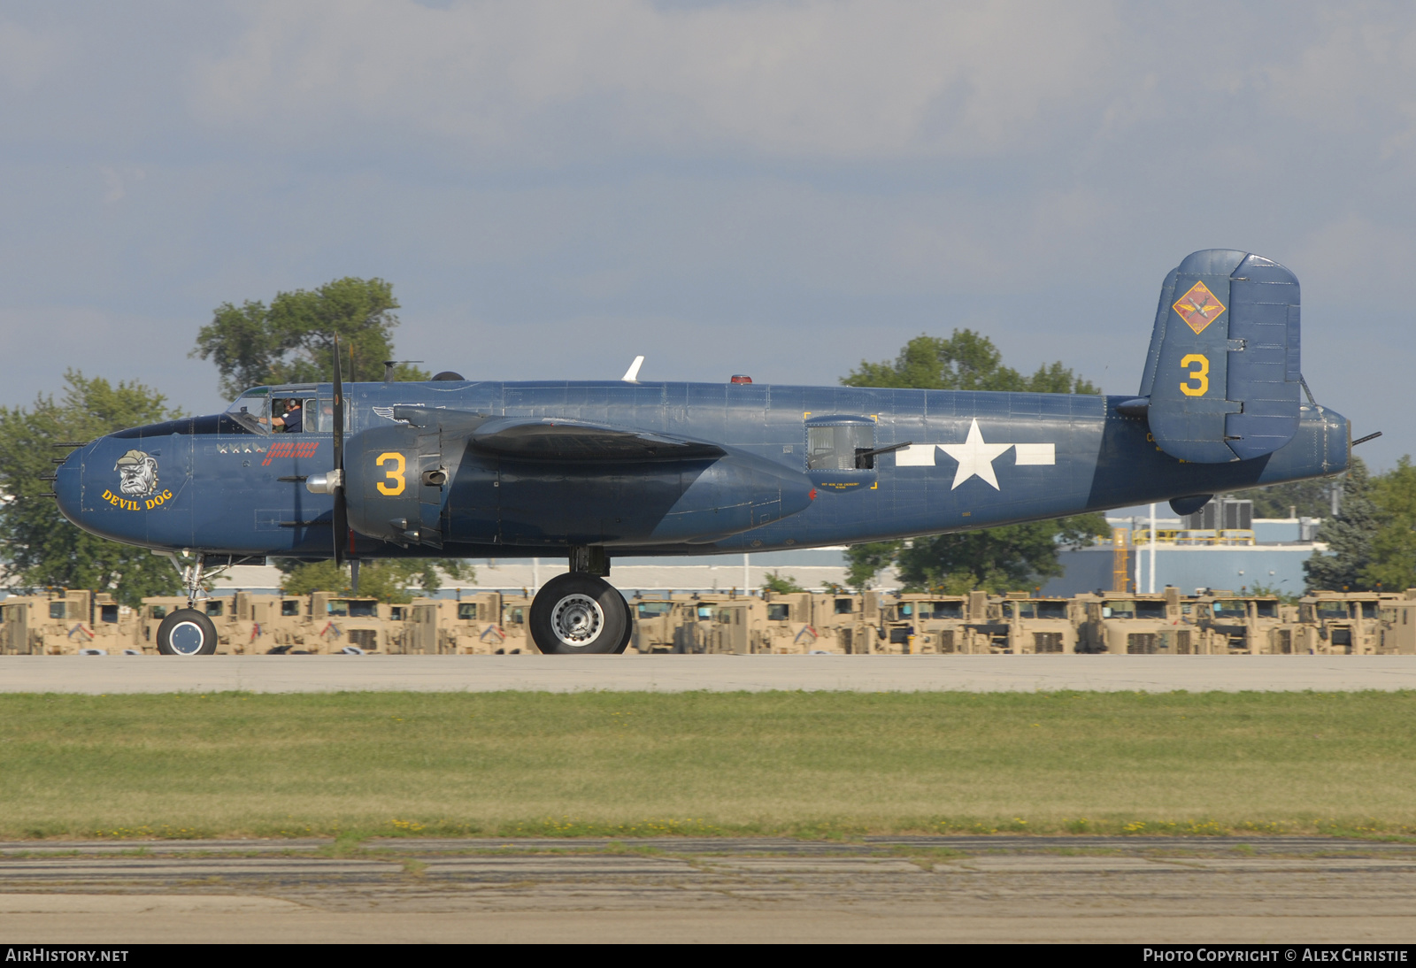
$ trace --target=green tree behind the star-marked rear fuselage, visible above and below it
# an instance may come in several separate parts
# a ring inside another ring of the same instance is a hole
[[[947,340],[919,335],[899,351],[893,362],[861,361],[843,376],[847,386],[898,386],[913,389],[1014,391],[1032,393],[1100,393],[1089,379],[1078,376],[1061,361],[1038,367],[1032,376],[1003,365],[1003,354],[988,337],[973,330],[954,330]],[[1065,524],[1072,522],[1072,524]],[[1100,515],[1062,521],[1037,521],[960,535],[922,538],[906,549],[902,541],[852,545],[845,551],[848,580],[868,589],[875,576],[901,565],[901,577],[920,587],[967,592],[971,587],[1001,590],[1031,584],[1038,577],[1061,575],[1056,542],[1090,545],[1092,535],[1106,532]],[[1073,534],[1076,532],[1076,534]],[[1048,538],[1054,543],[1045,546]],[[908,565],[906,565],[908,562]],[[906,575],[908,570],[908,575]],[[973,582],[964,587],[966,583]]]

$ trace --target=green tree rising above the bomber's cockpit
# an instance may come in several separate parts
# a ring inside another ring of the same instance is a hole
[[[270,304],[222,303],[197,333],[191,357],[211,359],[227,396],[261,384],[312,384],[334,372],[334,335],[340,337],[344,379],[379,381],[394,359],[392,283],[346,276],[316,290],[278,293]],[[396,379],[428,379],[428,372],[399,364]]]

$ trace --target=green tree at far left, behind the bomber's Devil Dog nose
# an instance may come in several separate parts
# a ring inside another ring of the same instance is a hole
[[[57,443],[89,442],[180,412],[143,384],[113,386],[72,369],[64,379],[58,401],[41,393],[30,408],[0,408],[0,538],[11,584],[112,592],[129,606],[144,596],[176,594],[181,582],[171,562],[75,528],[54,498],[42,497],[50,483],[41,477],[54,471],[51,457],[67,453]]]

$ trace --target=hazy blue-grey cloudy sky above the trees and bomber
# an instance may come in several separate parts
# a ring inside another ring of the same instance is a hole
[[[10,0],[0,126],[4,405],[214,409],[211,310],[346,275],[469,376],[828,384],[973,327],[1126,393],[1226,246],[1298,275],[1358,453],[1416,450],[1410,4]]]

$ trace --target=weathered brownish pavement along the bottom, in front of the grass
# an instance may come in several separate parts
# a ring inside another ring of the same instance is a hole
[[[1416,845],[1325,838],[0,845],[8,943],[1409,943]]]

